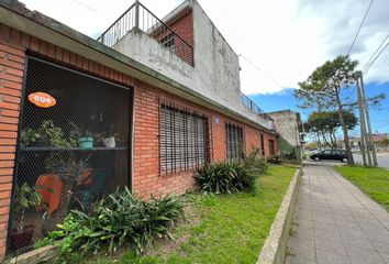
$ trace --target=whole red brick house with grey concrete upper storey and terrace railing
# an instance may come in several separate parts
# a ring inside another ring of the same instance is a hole
[[[196,1],[163,20],[136,3],[96,41],[0,0],[1,258],[70,208],[88,210],[124,186],[141,197],[184,194],[199,166],[237,158],[242,146],[275,155],[277,136]],[[12,228],[23,184],[44,206],[26,210],[21,235]]]

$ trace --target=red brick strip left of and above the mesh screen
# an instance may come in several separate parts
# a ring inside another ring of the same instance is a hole
[[[25,52],[84,73],[134,86],[130,76],[0,24],[0,262],[5,252]]]

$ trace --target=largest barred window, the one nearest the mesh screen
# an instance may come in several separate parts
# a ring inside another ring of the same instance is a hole
[[[189,170],[209,161],[208,118],[160,106],[160,172]]]

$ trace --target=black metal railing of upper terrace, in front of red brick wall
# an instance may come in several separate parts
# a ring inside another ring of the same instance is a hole
[[[193,47],[140,1],[135,1],[98,41],[112,47],[132,30],[143,31],[182,61],[193,65]]]

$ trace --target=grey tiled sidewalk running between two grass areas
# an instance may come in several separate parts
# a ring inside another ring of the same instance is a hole
[[[287,264],[389,263],[389,213],[332,167],[305,165]]]

